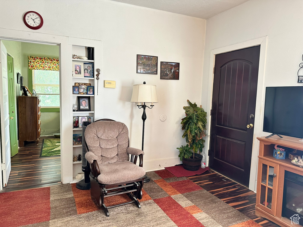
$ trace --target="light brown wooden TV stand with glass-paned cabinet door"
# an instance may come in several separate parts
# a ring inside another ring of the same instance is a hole
[[[257,139],[260,141],[260,146],[255,213],[282,227],[294,226],[290,219],[281,216],[284,174],[287,170],[303,176],[303,168],[292,164],[288,157],[285,157],[285,159],[274,158],[273,150],[275,144],[303,150],[303,142],[299,142],[300,139],[298,138],[287,136],[279,138],[276,135],[269,138],[257,137]],[[274,174],[272,174],[272,170]],[[269,172],[271,172],[271,175]]]

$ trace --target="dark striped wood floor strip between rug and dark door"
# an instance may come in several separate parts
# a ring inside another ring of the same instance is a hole
[[[233,208],[245,214],[263,227],[279,227],[275,223],[255,215],[256,193],[231,179],[216,173],[206,171],[199,176],[187,177],[206,191],[226,202]]]

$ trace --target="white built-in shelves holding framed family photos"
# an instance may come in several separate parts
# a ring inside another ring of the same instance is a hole
[[[92,46],[91,46],[92,47]],[[94,47],[93,47],[94,48]],[[80,45],[72,45],[71,48],[71,77],[72,77],[72,84],[70,85],[70,90],[71,90],[71,96],[72,96],[72,100],[73,100],[73,104],[76,104],[78,106],[78,98],[79,97],[85,97],[90,99],[90,106],[91,106],[91,110],[90,111],[73,111],[72,107],[71,107],[71,111],[72,111],[72,116],[79,116],[79,121],[78,123],[80,124],[80,119],[81,117],[86,117],[86,116],[92,116],[95,118],[95,95],[88,95],[88,94],[72,94],[72,86],[75,85],[75,83],[90,83],[91,86],[95,86],[95,65],[93,65],[92,70],[94,71],[94,78],[90,78],[90,77],[78,77],[78,76],[72,76],[75,74],[72,74],[72,71],[75,71],[74,65],[79,63],[80,65],[83,66],[82,63],[92,63],[94,64],[95,61],[94,60],[85,60],[85,59],[74,59],[72,58],[73,55],[76,54],[78,56],[86,56],[88,57],[88,53],[87,53],[87,46],[80,46]],[[84,69],[85,69],[85,64],[83,66],[83,68],[81,69],[81,72],[84,73]],[[95,91],[95,89],[94,89]],[[79,108],[79,107],[78,107]],[[71,127],[73,127],[73,121],[71,120]],[[73,128],[72,130],[73,135],[74,134],[82,134],[82,128]],[[72,141],[71,141],[72,143]],[[79,154],[82,155],[82,145],[75,145],[72,146],[72,155],[76,155],[78,156]],[[72,157],[70,158],[71,162],[72,162]],[[72,180],[70,180],[71,183],[75,183],[78,182],[79,179],[76,179],[75,176],[78,173],[82,173],[82,165],[80,164],[82,163],[82,161],[76,161],[76,162],[72,162]]]

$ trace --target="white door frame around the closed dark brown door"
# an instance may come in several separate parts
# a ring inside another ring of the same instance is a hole
[[[210,53],[210,63],[209,63],[209,78],[208,81],[208,100],[207,100],[207,113],[210,113],[211,103],[212,103],[212,89],[214,84],[214,73],[213,68],[215,67],[215,55],[223,54],[230,51],[236,51],[248,47],[254,47],[260,45],[260,59],[259,59],[259,70],[258,70],[258,84],[257,84],[257,97],[256,97],[256,110],[255,110],[255,130],[254,130],[254,138],[252,144],[252,153],[251,153],[251,168],[250,168],[250,179],[249,179],[249,189],[256,192],[257,187],[257,168],[258,168],[258,140],[257,136],[262,132],[263,126],[263,106],[264,106],[264,78],[265,78],[265,62],[266,62],[266,51],[267,51],[267,36],[252,39],[249,41],[244,41],[241,43],[229,45],[226,47],[221,47],[218,49],[211,50]],[[208,116],[208,126],[207,131],[210,132],[210,116]],[[259,122],[259,123],[257,123]],[[208,135],[205,140],[205,153],[208,153],[208,149],[210,146],[210,136]],[[208,155],[207,155],[208,157]],[[208,165],[207,159],[207,165]]]

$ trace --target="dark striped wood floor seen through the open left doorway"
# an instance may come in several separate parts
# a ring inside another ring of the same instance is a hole
[[[11,158],[12,170],[7,186],[2,192],[29,188],[46,187],[61,183],[60,156],[40,157],[41,139],[36,143],[28,142],[18,149],[18,154]]]

